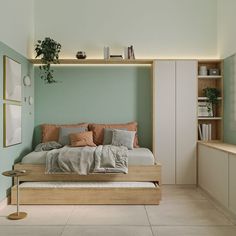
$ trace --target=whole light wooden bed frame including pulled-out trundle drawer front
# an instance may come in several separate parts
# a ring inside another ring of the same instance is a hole
[[[15,164],[14,170],[29,170],[20,182],[87,181],[153,182],[155,187],[138,188],[20,188],[20,204],[159,204],[161,165],[129,166],[128,174],[45,174],[45,165]],[[15,180],[14,180],[14,183]],[[16,186],[11,203],[16,204]]]

